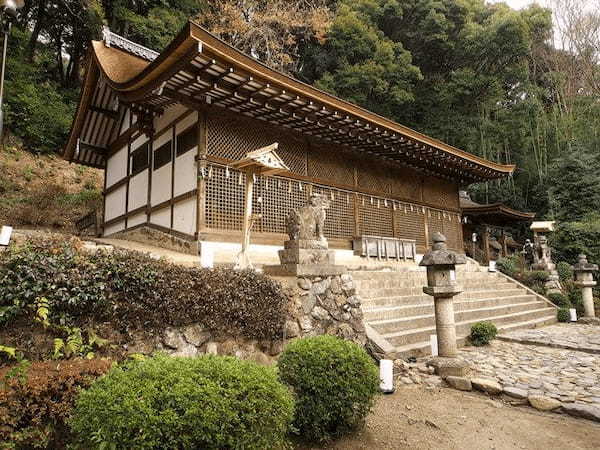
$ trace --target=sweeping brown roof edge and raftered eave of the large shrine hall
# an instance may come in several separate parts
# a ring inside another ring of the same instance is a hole
[[[103,79],[118,92],[122,100],[128,102],[147,102],[151,107],[158,107],[161,102],[172,102],[173,97],[179,92],[172,91],[169,87],[166,92],[163,92],[163,87],[177,76],[187,75],[191,81],[186,83],[186,88],[192,89],[189,83],[193,84],[194,78],[197,78],[199,83],[208,84],[208,88],[204,87],[201,90],[205,91],[205,97],[210,95],[217,99],[213,102],[215,105],[233,110],[235,107],[246,108],[244,113],[250,111],[247,105],[251,105],[254,111],[260,110],[263,116],[275,117],[279,114],[276,124],[289,125],[291,128],[298,126],[299,131],[307,130],[307,134],[313,134],[318,138],[329,140],[333,137],[337,139],[334,142],[341,140],[341,143],[347,145],[360,144],[369,149],[367,150],[369,153],[405,163],[410,167],[414,165],[425,171],[430,167],[433,173],[442,169],[446,172],[455,171],[456,179],[459,178],[459,173],[466,174],[465,179],[460,179],[461,182],[497,179],[512,174],[515,169],[514,165],[494,163],[452,147],[273,70],[193,22],[189,22],[171,44],[151,62],[121,50],[108,49],[102,42],[94,42],[92,56],[103,74]],[[208,65],[205,65],[203,73],[197,70],[198,62],[195,58],[198,57],[208,58]],[[211,62],[214,64],[211,65]],[[196,70],[197,75],[194,75],[194,72],[191,75],[186,73],[190,67]],[[224,70],[223,73],[219,72],[221,69]],[[207,71],[212,71],[212,74],[218,73],[218,76],[211,75]],[[246,87],[252,84],[263,86],[261,92],[269,91],[269,95],[272,96],[267,97],[264,102],[256,101],[252,91],[241,89],[240,82],[240,89],[235,89],[230,98],[220,98],[218,94],[220,95],[227,88],[218,85],[217,82],[211,86],[209,81],[201,79],[201,76],[206,74],[209,80],[223,81],[230,75],[230,80],[247,80],[244,82]],[[241,93],[242,91],[244,92]],[[272,92],[278,92],[278,95],[271,94]],[[198,101],[198,96],[192,93],[189,101]],[[178,96],[176,99],[188,100],[184,97],[188,96]],[[283,106],[279,107],[279,103],[276,107],[269,104],[275,102],[273,100],[275,98],[278,101],[282,98],[286,99],[287,103],[284,103],[284,106],[293,105],[294,109],[290,111]],[[290,98],[292,100],[289,100]],[[82,96],[77,115],[85,114],[88,106],[89,104],[85,105],[85,98]],[[296,113],[296,111],[306,114]],[[75,125],[78,120],[79,118],[76,117],[69,142],[65,147],[64,156],[67,159],[73,156],[76,144],[74,137],[77,135]],[[332,124],[340,127],[337,128]],[[343,132],[340,131],[342,129]],[[336,134],[344,132],[347,135],[343,137]],[[370,151],[370,149],[374,150]],[[404,158],[405,161],[400,161],[399,157]],[[459,168],[448,168],[455,166]],[[452,174],[450,173],[449,176]]]

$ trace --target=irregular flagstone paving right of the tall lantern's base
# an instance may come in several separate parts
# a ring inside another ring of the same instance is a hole
[[[486,347],[465,347],[460,356],[471,363],[473,376],[496,379],[504,389],[600,407],[600,355],[495,340]]]

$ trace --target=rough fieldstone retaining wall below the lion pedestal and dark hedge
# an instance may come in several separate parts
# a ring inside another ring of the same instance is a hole
[[[331,334],[365,346],[361,300],[349,274],[329,277],[276,278],[289,299],[289,315],[282,339],[251,340],[224,335],[201,325],[166,328],[159,334],[138,333],[127,345],[129,354],[164,351],[173,356],[229,355],[272,364],[287,342],[306,336]]]

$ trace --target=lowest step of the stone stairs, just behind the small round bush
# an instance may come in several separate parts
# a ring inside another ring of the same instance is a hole
[[[554,308],[539,308],[529,311],[505,314],[501,316],[489,316],[485,320],[493,322],[497,327],[516,324],[518,322],[535,321],[536,319],[553,317],[556,320]],[[467,336],[471,332],[471,326],[482,319],[476,318],[456,323],[456,335]],[[370,324],[371,325],[371,324]],[[373,326],[373,325],[371,325]],[[412,328],[408,330],[394,331],[382,334],[383,338],[388,340],[394,347],[401,347],[418,342],[429,341],[429,336],[435,334],[435,325]]]

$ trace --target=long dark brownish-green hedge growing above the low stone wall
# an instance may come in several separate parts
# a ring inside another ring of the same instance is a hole
[[[186,268],[136,252],[89,254],[78,242],[33,239],[1,254],[0,326],[31,317],[67,327],[57,356],[91,352],[89,332],[80,343],[81,330],[68,327],[98,321],[120,330],[200,323],[249,339],[282,333],[288,300],[264,275]]]

